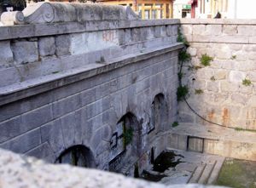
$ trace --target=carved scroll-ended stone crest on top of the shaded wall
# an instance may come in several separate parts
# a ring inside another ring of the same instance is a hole
[[[138,20],[131,7],[90,3],[32,3],[22,12],[1,15],[3,25],[83,22],[85,20]]]

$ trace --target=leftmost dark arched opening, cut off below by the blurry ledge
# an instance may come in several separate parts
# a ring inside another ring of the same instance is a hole
[[[62,151],[55,163],[67,163],[73,166],[95,168],[95,158],[90,148],[84,145],[73,145]]]

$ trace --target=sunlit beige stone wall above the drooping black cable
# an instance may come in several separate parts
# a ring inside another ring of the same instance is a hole
[[[225,127],[256,129],[255,20],[181,20],[189,42],[191,64],[186,64],[183,83],[188,84],[189,104],[207,120]],[[211,66],[201,66],[201,56],[212,57]],[[243,80],[251,84],[246,86]],[[195,94],[201,89],[202,94]],[[180,121],[207,124],[184,103]]]

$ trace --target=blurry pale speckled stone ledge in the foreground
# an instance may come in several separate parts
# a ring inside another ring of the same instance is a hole
[[[32,157],[22,157],[0,150],[1,187],[86,187],[86,188],[213,188],[206,185],[161,185],[144,180],[126,178],[120,174],[96,169],[76,168],[67,164],[48,164]]]

